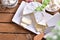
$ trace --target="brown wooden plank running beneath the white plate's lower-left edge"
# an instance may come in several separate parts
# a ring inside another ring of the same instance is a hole
[[[13,23],[0,23],[0,32],[30,33],[23,27]]]

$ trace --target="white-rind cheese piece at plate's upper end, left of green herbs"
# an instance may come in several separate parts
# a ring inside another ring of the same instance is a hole
[[[23,15],[30,14],[35,11],[36,7],[41,6],[41,3],[39,2],[30,2],[28,3],[24,10],[23,10]]]

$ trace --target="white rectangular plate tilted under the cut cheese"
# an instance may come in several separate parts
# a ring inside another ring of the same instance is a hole
[[[21,25],[21,18],[22,18],[22,14],[23,14],[23,9],[24,7],[27,5],[28,3],[22,1],[22,3],[20,4],[19,8],[17,9],[12,21],[18,25]],[[45,16],[45,20],[48,21],[51,17],[53,17],[52,15],[48,14],[48,13],[43,13]],[[28,16],[29,17],[29,16]],[[22,26],[22,25],[21,25]],[[22,26],[23,28],[35,33],[35,34],[40,34],[40,32],[37,32],[33,26],[33,24],[28,25],[28,26]]]

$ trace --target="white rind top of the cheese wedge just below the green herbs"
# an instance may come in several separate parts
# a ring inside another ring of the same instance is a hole
[[[45,16],[44,16],[43,13],[45,13],[45,12],[44,11],[42,11],[42,12],[35,12],[34,16],[35,16],[35,20],[36,20],[37,24],[46,26],[46,20],[45,20]]]

